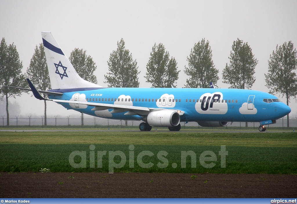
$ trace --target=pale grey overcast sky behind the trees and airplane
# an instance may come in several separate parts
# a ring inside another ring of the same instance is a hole
[[[0,38],[16,45],[23,62],[23,72],[29,67],[36,45],[42,43],[41,31],[51,31],[67,57],[75,48],[86,50],[97,65],[94,74],[98,84],[104,83],[110,53],[124,39],[126,49],[136,59],[140,87],[146,83],[146,64],[153,45],[162,43],[177,61],[183,87],[189,76],[184,74],[194,44],[205,38],[211,46],[215,67],[219,70],[217,86],[222,83],[222,71],[229,64],[233,41],[248,42],[258,60],[256,81],[252,89],[268,92],[264,73],[277,45],[292,41],[297,46],[297,1],[0,1]],[[277,95],[281,101],[285,97]],[[10,98],[10,110],[19,116],[41,116],[43,101],[29,94]],[[48,116],[77,116],[48,102]],[[5,116],[5,103],[0,102],[0,115]],[[32,108],[34,107],[34,108]],[[297,116],[297,103],[291,99],[291,116]]]

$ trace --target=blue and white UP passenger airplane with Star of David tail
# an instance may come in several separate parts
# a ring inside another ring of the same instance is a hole
[[[222,127],[240,121],[260,122],[263,132],[291,111],[274,95],[248,89],[102,87],[78,75],[51,32],[42,32],[42,41],[52,89],[37,90],[27,79],[37,99],[95,117],[143,121],[140,131],[152,126],[179,131],[180,122]]]

